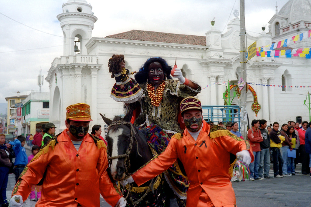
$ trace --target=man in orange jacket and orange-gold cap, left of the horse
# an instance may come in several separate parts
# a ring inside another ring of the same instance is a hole
[[[42,182],[43,206],[100,206],[100,193],[112,206],[125,207],[126,200],[115,190],[107,168],[104,142],[87,133],[90,106],[78,103],[66,108],[66,129],[49,142],[30,161],[16,183],[11,206],[21,206],[33,185]]]

